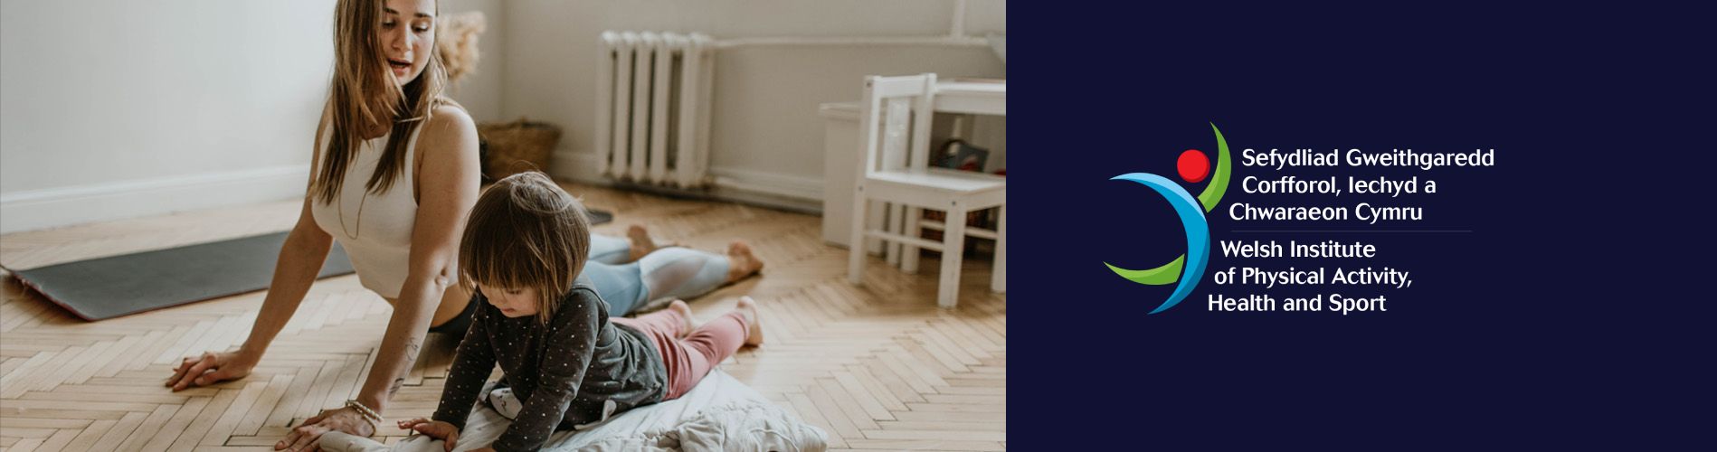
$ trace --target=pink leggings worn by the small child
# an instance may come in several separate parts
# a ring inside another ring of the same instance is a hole
[[[608,321],[644,332],[656,344],[668,368],[668,395],[661,399],[663,402],[680,399],[692,390],[721,359],[728,359],[745,345],[745,335],[750,333],[745,316],[737,311],[697,327],[683,339],[680,332],[685,330],[685,316],[673,309]]]

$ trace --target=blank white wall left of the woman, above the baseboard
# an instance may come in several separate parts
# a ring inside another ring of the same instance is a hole
[[[0,2],[0,232],[302,194],[333,2]]]

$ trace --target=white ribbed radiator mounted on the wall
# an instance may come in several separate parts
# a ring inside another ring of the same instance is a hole
[[[714,40],[604,31],[596,76],[603,175],[670,187],[709,186]]]

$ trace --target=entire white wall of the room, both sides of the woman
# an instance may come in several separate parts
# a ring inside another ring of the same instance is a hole
[[[1006,31],[970,0],[965,31]],[[944,36],[953,0],[441,0],[481,10],[477,72],[453,98],[482,122],[567,134],[560,177],[594,180],[598,34]],[[302,196],[333,65],[333,0],[0,0],[0,232]],[[819,187],[817,103],[867,74],[1003,77],[975,46],[740,46],[716,55],[713,172]],[[816,198],[814,192],[804,196]]]

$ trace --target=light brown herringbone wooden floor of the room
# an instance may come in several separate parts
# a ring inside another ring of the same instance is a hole
[[[848,285],[846,251],[822,244],[819,217],[567,187],[616,213],[598,232],[642,223],[702,249],[749,241],[764,275],[692,308],[713,318],[737,296],[761,301],[769,344],[721,368],[822,426],[831,449],[1004,447],[1008,309],[1006,296],[987,290],[987,261],[967,261],[960,308],[944,311],[934,260],[919,275],[872,260],[865,285]],[[33,268],[276,232],[295,217],[288,201],[9,234],[0,261]],[[161,382],[180,356],[244,340],[261,292],[96,323],[10,277],[0,294],[0,449],[9,450],[271,450],[288,426],[357,392],[391,309],[357,277],[321,280],[249,378],[170,392]],[[434,411],[453,340],[431,337],[383,412],[390,421]],[[402,438],[391,428],[378,435]]]

